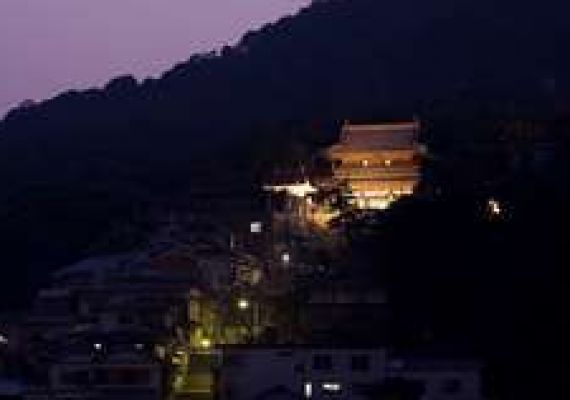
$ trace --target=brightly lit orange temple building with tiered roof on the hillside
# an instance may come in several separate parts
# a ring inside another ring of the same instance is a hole
[[[339,143],[326,155],[354,205],[386,209],[414,192],[420,180],[419,131],[418,122],[343,126]]]

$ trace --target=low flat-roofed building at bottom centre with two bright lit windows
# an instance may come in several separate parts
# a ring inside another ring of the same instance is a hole
[[[382,348],[226,348],[225,399],[481,399],[481,366],[397,357]]]

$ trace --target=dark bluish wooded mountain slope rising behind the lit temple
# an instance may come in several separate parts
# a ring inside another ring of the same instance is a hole
[[[319,1],[160,79],[13,110],[0,124],[0,266],[16,273],[3,285],[78,257],[142,200],[188,185],[196,160],[267,126],[565,93],[569,6],[496,3]]]

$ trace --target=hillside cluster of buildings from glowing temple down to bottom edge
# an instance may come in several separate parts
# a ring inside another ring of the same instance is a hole
[[[344,126],[328,154],[349,203],[385,209],[414,192],[418,131],[415,122]],[[235,211],[234,226],[194,211],[144,250],[55,272],[10,332],[0,325],[0,356],[19,354],[23,377],[0,384],[0,398],[481,398],[477,362],[396,354],[381,332],[361,343],[350,319],[380,325],[384,293],[335,282],[304,256],[316,241],[310,223],[334,217],[313,200],[316,184],[266,188],[286,206]]]

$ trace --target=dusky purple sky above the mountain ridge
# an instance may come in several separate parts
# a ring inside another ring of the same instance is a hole
[[[157,75],[310,0],[0,0],[0,116],[23,99]]]

